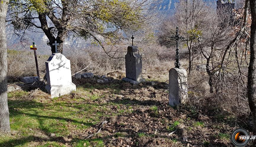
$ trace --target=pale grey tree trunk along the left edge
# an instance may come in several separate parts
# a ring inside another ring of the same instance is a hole
[[[7,46],[5,17],[9,0],[0,0],[0,133],[9,133],[10,120],[7,103]]]

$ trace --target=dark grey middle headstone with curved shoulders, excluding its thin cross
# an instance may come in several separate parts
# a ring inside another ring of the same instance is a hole
[[[123,81],[133,84],[138,84],[145,81],[142,78],[142,62],[139,55],[138,46],[128,46],[127,54],[125,55],[125,74]]]

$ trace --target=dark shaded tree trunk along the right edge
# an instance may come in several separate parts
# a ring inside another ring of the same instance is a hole
[[[256,1],[250,0],[252,14],[251,39],[250,39],[250,63],[248,68],[247,95],[249,107],[253,117],[253,134],[256,134]]]

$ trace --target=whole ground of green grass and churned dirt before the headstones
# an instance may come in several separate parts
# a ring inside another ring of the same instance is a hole
[[[54,99],[36,88],[8,93],[15,133],[0,146],[229,145],[235,117],[171,107],[165,82],[100,78],[73,78],[77,90]]]

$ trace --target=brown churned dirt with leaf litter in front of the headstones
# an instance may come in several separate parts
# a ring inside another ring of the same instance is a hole
[[[73,113],[80,119],[92,119],[99,113],[96,123],[91,126],[78,129],[71,125],[66,134],[48,139],[57,140],[56,146],[79,146],[77,140],[84,141],[81,146],[233,146],[229,139],[232,131],[239,127],[250,128],[244,123],[248,121],[248,117],[238,118],[220,108],[209,108],[209,111],[202,112],[189,104],[175,108],[169,106],[168,83],[146,81],[132,85],[121,81],[121,77],[108,78],[110,82],[103,84],[96,82],[99,79],[96,76],[90,79],[73,79],[78,90],[54,98],[54,101],[45,93],[44,84],[27,85],[23,90],[30,94],[21,99],[30,98],[44,103],[64,101],[72,106],[83,104],[79,111]],[[33,92],[35,89],[36,93]],[[87,113],[90,108],[84,105],[95,106],[94,112]],[[12,114],[10,117],[12,118]],[[53,137],[51,132],[43,134]],[[67,139],[63,140],[63,137]],[[102,141],[102,145],[95,140]],[[42,142],[28,145],[47,146]]]

